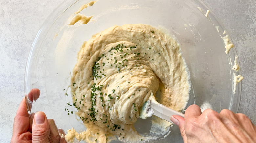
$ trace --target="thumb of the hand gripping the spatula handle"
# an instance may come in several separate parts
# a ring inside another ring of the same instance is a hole
[[[179,115],[173,115],[173,116],[171,116],[170,119],[175,125],[177,125],[179,127],[183,141],[184,141],[184,143],[186,143],[187,136],[185,133],[185,119]]]

